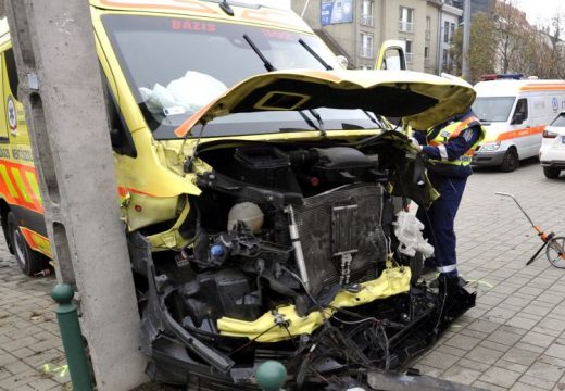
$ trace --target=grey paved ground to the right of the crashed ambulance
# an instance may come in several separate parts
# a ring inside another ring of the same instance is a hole
[[[565,269],[550,265],[535,223],[565,236],[565,178],[548,180],[539,163],[469,178],[456,220],[462,275],[475,280],[477,306],[419,358],[423,373],[489,390],[565,390]]]

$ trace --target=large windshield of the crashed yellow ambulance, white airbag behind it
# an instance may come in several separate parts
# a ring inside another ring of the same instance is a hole
[[[180,17],[104,15],[102,22],[156,139],[176,138],[174,129],[196,111],[269,64],[277,71],[325,70],[324,63],[340,68],[324,43],[306,34]],[[326,129],[375,127],[361,110],[318,112]],[[238,113],[210,122],[204,137],[310,130],[316,124],[309,112]]]

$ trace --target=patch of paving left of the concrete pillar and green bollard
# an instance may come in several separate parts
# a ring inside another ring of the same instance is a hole
[[[0,390],[65,390],[70,382],[49,295],[54,283],[24,276],[0,235]]]

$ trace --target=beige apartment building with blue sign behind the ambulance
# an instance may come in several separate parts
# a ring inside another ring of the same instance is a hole
[[[463,14],[452,0],[291,0],[291,7],[351,67],[373,68],[380,43],[400,39],[409,70],[434,74]]]

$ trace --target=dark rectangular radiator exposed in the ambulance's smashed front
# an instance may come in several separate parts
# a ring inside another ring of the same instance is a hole
[[[307,198],[294,206],[312,293],[340,281],[355,283],[377,277],[377,262],[387,255],[382,197],[380,185],[357,185]],[[344,263],[349,281],[343,279]]]

